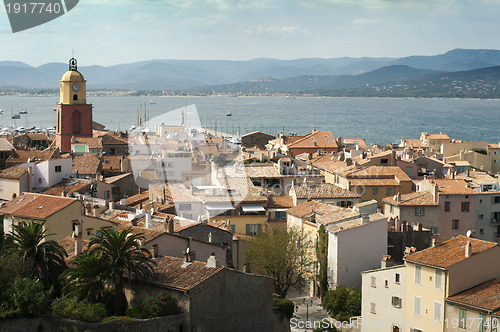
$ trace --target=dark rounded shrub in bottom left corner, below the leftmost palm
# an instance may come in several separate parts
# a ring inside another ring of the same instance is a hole
[[[39,315],[48,307],[50,292],[45,291],[41,281],[16,279],[9,292],[12,304],[21,317]]]

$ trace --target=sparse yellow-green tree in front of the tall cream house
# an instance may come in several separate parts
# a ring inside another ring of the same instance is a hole
[[[246,251],[252,269],[274,278],[274,292],[282,299],[303,279],[310,241],[297,229],[274,229],[252,239]]]

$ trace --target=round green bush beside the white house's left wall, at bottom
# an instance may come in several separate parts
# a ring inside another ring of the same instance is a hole
[[[326,292],[323,307],[336,320],[346,321],[361,315],[361,290],[355,287],[339,287]]]

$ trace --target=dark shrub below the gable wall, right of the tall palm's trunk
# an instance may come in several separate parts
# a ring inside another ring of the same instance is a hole
[[[180,313],[177,301],[168,293],[161,292],[148,296],[140,304],[129,308],[127,316],[147,319],[152,317],[170,316]]]

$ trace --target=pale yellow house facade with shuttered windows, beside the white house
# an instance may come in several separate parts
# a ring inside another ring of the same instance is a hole
[[[422,283],[415,283],[415,264],[406,262],[406,299],[405,299],[405,322],[415,322],[420,324],[423,331],[443,331],[444,319],[444,299],[446,297],[446,283],[448,275],[443,272],[441,289],[434,287],[435,270],[431,267],[422,266]],[[419,296],[421,300],[421,315],[414,315],[414,296]],[[441,322],[434,322],[434,301],[441,303]],[[418,327],[416,327],[418,328]],[[405,327],[405,332],[410,328]]]

